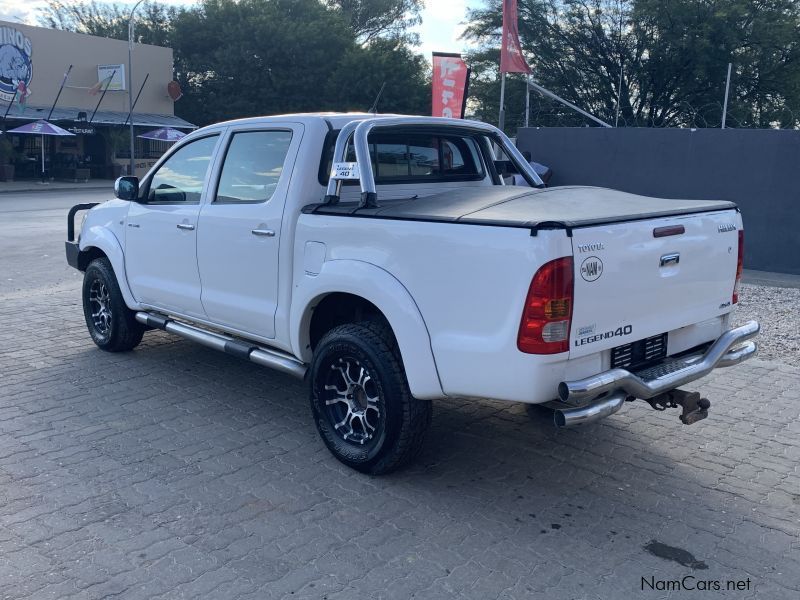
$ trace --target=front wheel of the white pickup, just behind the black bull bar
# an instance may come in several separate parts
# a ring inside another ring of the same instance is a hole
[[[83,275],[83,316],[92,341],[106,352],[125,352],[139,345],[145,326],[122,297],[107,258],[89,263]]]

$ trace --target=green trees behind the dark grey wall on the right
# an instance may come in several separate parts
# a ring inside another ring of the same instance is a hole
[[[480,44],[472,60],[481,115],[498,108],[491,59],[501,14],[500,2],[491,0],[468,16],[466,36]],[[535,79],[605,121],[616,120],[619,98],[620,125],[719,126],[733,62],[731,125],[798,123],[785,109],[800,107],[794,0],[520,0],[519,16]],[[524,106],[524,95],[513,90],[510,126]],[[534,96],[533,105],[537,124],[588,123],[549,100]]]

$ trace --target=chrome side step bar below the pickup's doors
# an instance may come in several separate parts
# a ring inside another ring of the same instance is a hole
[[[306,374],[307,367],[304,363],[297,360],[291,354],[281,352],[280,350],[258,346],[251,342],[235,339],[222,333],[200,329],[194,325],[188,325],[153,313],[137,312],[136,320],[148,327],[163,329],[164,331],[174,333],[182,338],[197,342],[203,346],[208,346],[214,350],[221,350],[222,352],[227,352],[233,356],[250,360],[264,367],[294,375],[298,379],[303,379]]]

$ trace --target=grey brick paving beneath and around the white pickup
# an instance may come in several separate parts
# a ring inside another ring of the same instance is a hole
[[[160,332],[96,350],[63,213],[0,214],[0,597],[800,596],[800,368],[718,371],[691,427],[442,402],[420,462],[369,478],[289,377]],[[687,575],[749,589],[664,591]]]

